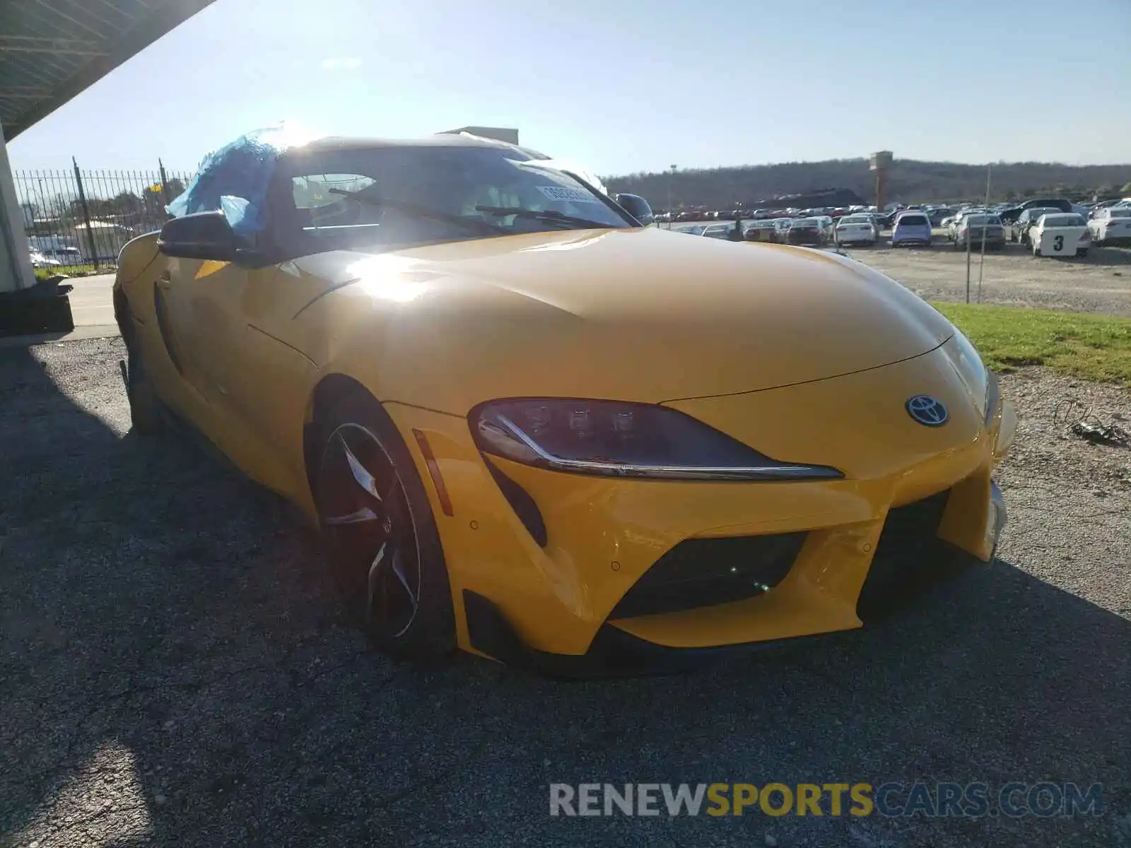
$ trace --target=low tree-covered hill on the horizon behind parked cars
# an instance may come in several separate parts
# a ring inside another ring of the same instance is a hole
[[[805,193],[830,187],[852,189],[875,201],[875,174],[867,159],[787,162],[638,173],[602,178],[613,191],[642,194],[656,209],[672,205],[731,209],[740,202],[753,206],[784,194]],[[985,198],[986,166],[953,162],[896,159],[888,172],[888,200],[947,202]],[[1061,165],[1045,162],[999,162],[992,166],[991,199],[1013,200],[1039,194],[1064,194],[1090,199],[1093,194],[1131,196],[1131,164]]]

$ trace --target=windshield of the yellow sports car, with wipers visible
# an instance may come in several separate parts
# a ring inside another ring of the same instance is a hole
[[[585,183],[517,149],[372,147],[301,153],[274,197],[276,239],[294,252],[372,250],[594,227],[629,227]]]

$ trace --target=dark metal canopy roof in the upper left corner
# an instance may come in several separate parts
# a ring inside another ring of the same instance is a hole
[[[0,0],[10,141],[213,0]]]

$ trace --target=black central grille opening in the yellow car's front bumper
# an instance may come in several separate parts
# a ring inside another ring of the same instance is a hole
[[[761,595],[789,573],[805,535],[685,539],[644,573],[608,617],[674,613]]]

